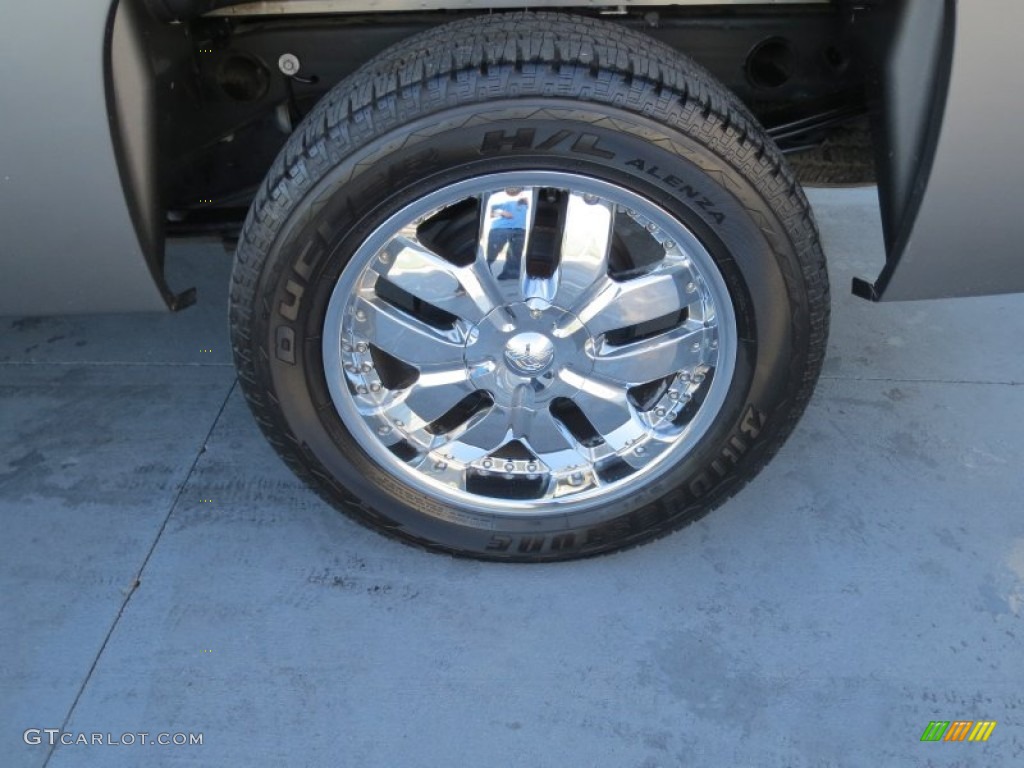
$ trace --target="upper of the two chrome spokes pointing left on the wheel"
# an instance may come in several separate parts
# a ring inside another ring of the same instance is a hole
[[[411,234],[394,238],[374,269],[401,290],[471,323],[501,303],[490,285],[472,266],[456,266]]]

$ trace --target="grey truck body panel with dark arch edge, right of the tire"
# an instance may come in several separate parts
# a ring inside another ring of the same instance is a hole
[[[1024,6],[904,0],[890,12],[876,113],[886,265],[873,283],[855,280],[854,293],[879,301],[1024,291],[1020,108],[1008,109],[1024,97],[1013,39]]]

